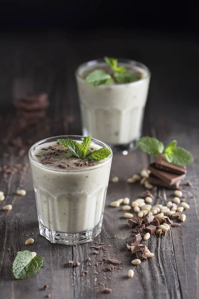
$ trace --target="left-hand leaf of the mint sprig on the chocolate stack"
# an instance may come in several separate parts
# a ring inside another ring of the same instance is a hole
[[[159,156],[163,153],[164,145],[161,141],[152,137],[142,137],[138,140],[140,149],[148,154]]]

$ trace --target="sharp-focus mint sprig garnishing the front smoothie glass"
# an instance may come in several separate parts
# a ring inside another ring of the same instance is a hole
[[[103,160],[110,155],[110,150],[106,148],[89,151],[91,145],[91,136],[85,137],[82,144],[77,141],[68,139],[58,139],[60,145],[68,148],[71,154],[76,158],[82,158],[85,160]]]

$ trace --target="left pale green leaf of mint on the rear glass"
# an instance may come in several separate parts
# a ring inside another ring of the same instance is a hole
[[[106,82],[110,79],[112,79],[112,77],[108,72],[104,70],[95,70],[86,77],[85,82],[93,87],[96,87],[102,84],[106,84]]]

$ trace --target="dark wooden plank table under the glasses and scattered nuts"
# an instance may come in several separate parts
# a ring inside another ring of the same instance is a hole
[[[126,250],[126,240],[130,236],[127,221],[120,208],[110,208],[109,203],[121,197],[129,197],[132,201],[143,196],[144,188],[140,184],[127,184],[126,179],[147,166],[149,157],[145,153],[137,149],[126,156],[117,153],[113,157],[111,177],[118,176],[119,182],[110,181],[108,186],[102,231],[95,239],[97,244],[105,243],[107,251],[100,250],[97,256],[91,248],[94,242],[71,247],[50,244],[39,235],[28,165],[20,173],[9,175],[7,182],[1,177],[0,191],[5,193],[5,200],[0,202],[0,208],[12,204],[12,210],[0,210],[0,298],[39,299],[48,293],[55,299],[199,298],[198,53],[199,44],[175,35],[168,38],[122,31],[0,35],[1,167],[6,163],[26,165],[28,147],[35,141],[55,135],[81,134],[74,71],[81,62],[104,55],[136,59],[150,68],[152,78],[143,135],[157,137],[164,143],[177,139],[179,146],[189,149],[195,156],[187,175],[194,186],[183,186],[191,207],[186,212],[186,222],[180,228],[172,228],[165,238],[153,236],[145,241],[155,256],[135,267]],[[11,108],[13,84],[16,78],[24,77],[33,82],[34,91],[48,93],[50,107],[48,118],[40,121],[36,131],[22,133],[26,152],[19,157],[18,149],[3,141],[17,122]],[[15,195],[20,184],[26,190],[23,197]],[[173,191],[158,189],[154,202],[164,202],[165,194],[167,200],[172,199]],[[34,244],[25,246],[25,240],[32,236]],[[37,252],[44,258],[44,265],[34,276],[15,280],[12,262],[17,251],[24,249]],[[113,272],[104,272],[104,264],[95,265],[103,257],[121,260],[121,269],[115,267]],[[80,267],[69,268],[69,260],[80,262]],[[131,280],[127,278],[130,268],[135,272]],[[84,271],[88,274],[81,276]],[[47,291],[43,290],[45,284],[49,285]],[[105,287],[111,288],[112,293],[103,294]]]

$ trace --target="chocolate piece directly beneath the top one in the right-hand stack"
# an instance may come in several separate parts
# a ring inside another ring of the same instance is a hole
[[[177,183],[179,180],[184,179],[186,176],[186,174],[175,174],[173,172],[158,169],[155,163],[149,164],[148,169],[151,171],[151,173],[153,173],[155,176],[157,176],[169,185]]]

